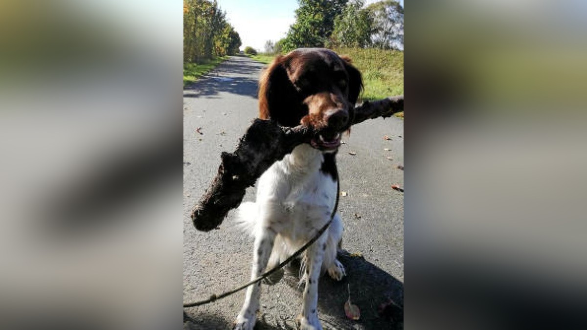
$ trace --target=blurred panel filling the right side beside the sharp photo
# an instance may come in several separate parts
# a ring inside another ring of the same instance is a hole
[[[406,325],[587,328],[586,9],[407,2]]]

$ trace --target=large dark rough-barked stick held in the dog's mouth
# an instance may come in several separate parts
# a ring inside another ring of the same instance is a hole
[[[390,117],[403,111],[403,95],[365,102],[355,108],[353,125],[367,119]],[[195,228],[210,231],[222,223],[228,211],[239,206],[245,190],[252,187],[275,161],[281,160],[298,144],[309,142],[312,127],[282,127],[271,120],[255,119],[239,140],[233,153],[222,152],[216,177],[194,207]]]

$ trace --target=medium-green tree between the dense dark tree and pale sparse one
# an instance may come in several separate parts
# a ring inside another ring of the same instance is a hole
[[[370,44],[373,18],[363,0],[350,1],[336,17],[328,46],[365,48]]]

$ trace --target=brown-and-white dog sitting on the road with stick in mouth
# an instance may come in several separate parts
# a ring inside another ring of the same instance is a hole
[[[349,58],[329,49],[302,48],[277,56],[259,80],[259,118],[281,126],[313,126],[318,134],[296,146],[260,178],[255,203],[242,203],[238,221],[255,237],[251,280],[284,261],[311,240],[329,220],[336,203],[336,153],[348,131],[362,77]],[[343,225],[337,212],[328,230],[305,252],[305,283],[300,329],[322,329],[318,319],[318,278],[324,272],[341,280],[336,260]],[[251,285],[234,328],[252,329],[257,321],[261,282]]]

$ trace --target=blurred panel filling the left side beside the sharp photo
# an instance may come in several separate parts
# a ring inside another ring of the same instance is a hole
[[[181,326],[181,8],[0,2],[0,328]]]

